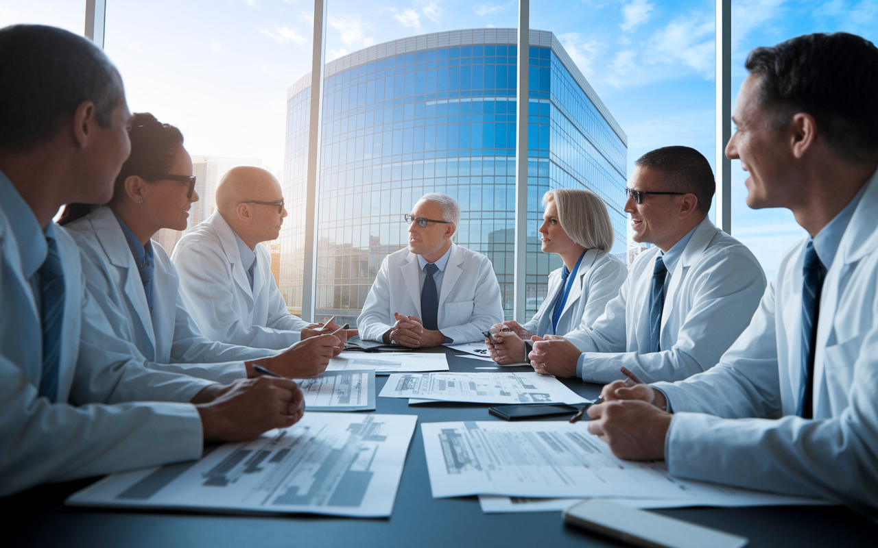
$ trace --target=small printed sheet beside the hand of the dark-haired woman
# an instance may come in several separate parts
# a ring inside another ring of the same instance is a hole
[[[293,379],[308,411],[374,411],[375,370],[325,371],[313,379]]]

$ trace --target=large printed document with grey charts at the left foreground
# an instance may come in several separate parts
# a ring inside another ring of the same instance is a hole
[[[73,506],[387,517],[417,416],[306,413],[299,423],[200,460],[116,473]]]

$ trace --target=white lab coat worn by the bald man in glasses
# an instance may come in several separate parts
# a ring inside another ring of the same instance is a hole
[[[205,337],[229,345],[287,348],[308,323],[291,315],[271,274],[271,254],[256,246],[253,289],[234,231],[214,211],[180,238],[171,253],[186,310]]]

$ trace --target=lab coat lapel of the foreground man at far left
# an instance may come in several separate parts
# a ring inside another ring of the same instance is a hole
[[[108,207],[99,208],[91,214],[91,224],[95,228],[97,241],[104,248],[107,259],[114,267],[119,267],[119,275],[122,278],[123,293],[130,306],[137,312],[140,327],[146,332],[149,342],[155,352],[155,332],[153,331],[153,317],[149,312],[147,294],[143,290],[143,281],[140,280],[140,271],[134,264],[134,256],[125,239],[125,233],[119,226],[119,220]],[[155,288],[155,282],[153,287]],[[155,289],[154,289],[155,290]],[[155,359],[155,356],[147,356]]]

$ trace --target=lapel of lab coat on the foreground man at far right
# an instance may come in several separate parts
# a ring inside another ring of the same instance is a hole
[[[845,234],[838,242],[838,252],[826,273],[823,290],[820,295],[820,317],[817,319],[817,341],[814,354],[814,417],[831,416],[831,402],[828,401],[829,390],[826,385],[824,370],[824,350],[832,336],[833,318],[838,313],[838,295],[844,288],[846,273],[856,262],[878,247],[878,232],[874,230],[874,219],[878,218],[878,172],[867,182],[867,189],[853,211],[851,222]],[[837,344],[839,341],[833,341]],[[797,385],[796,385],[797,386]]]

